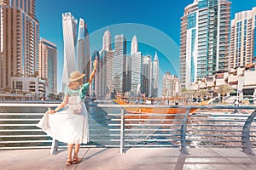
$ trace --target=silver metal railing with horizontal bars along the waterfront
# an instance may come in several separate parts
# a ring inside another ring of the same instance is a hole
[[[58,147],[66,147],[36,127],[47,108],[56,105],[0,104],[0,150],[51,148],[54,154]],[[87,106],[90,143],[82,147],[115,147],[121,153],[130,147],[178,147],[184,154],[189,153],[189,147],[241,148],[247,154],[254,154],[256,148],[255,106]],[[10,112],[10,107],[23,108],[25,112],[18,109]],[[137,108],[137,113],[126,111],[131,107]],[[144,107],[152,112],[139,113]],[[172,114],[154,113],[168,108],[178,110]],[[194,109],[198,111],[191,113]]]

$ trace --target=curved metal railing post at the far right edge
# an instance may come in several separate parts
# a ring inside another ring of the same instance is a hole
[[[241,133],[242,151],[251,155],[254,155],[254,152],[253,152],[253,147],[250,140],[250,130],[251,130],[251,125],[255,116],[256,116],[256,111],[253,111],[253,113],[250,116],[248,116],[247,121],[244,123],[242,127],[242,133]]]

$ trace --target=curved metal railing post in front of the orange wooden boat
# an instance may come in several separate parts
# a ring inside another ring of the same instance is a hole
[[[181,140],[181,150],[180,151],[183,154],[189,154],[189,151],[187,149],[187,140],[186,140],[187,120],[189,117],[189,111],[190,111],[190,109],[188,109],[186,111],[186,115],[184,116],[182,126],[181,126],[181,131],[180,131],[180,140]]]

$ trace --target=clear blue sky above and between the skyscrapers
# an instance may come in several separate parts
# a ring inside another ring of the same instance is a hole
[[[256,7],[255,0],[230,0],[231,19],[237,12]],[[112,38],[125,34],[128,41],[137,36],[139,51],[160,59],[160,79],[166,72],[178,76],[180,18],[194,0],[36,0],[40,37],[58,48],[58,89],[61,89],[63,35],[61,14],[71,12],[83,18],[90,33],[90,52],[102,47],[102,36],[109,29]],[[128,42],[128,49],[130,42]],[[128,53],[130,51],[128,50]]]

